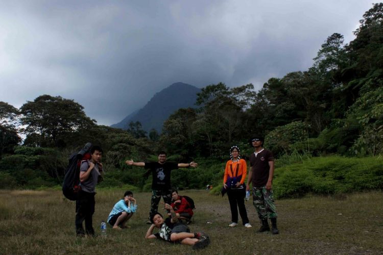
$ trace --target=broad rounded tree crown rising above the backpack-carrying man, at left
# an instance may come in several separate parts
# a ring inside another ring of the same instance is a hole
[[[21,106],[21,123],[26,125],[27,139],[33,137],[34,144],[65,146],[66,135],[87,130],[95,123],[83,109],[74,100],[41,95]]]

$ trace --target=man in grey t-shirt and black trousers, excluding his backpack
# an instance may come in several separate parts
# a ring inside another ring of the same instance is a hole
[[[94,213],[94,195],[95,186],[99,182],[102,171],[102,148],[92,146],[90,148],[90,160],[84,160],[80,166],[81,191],[76,200],[76,234],[78,237],[84,237],[85,234],[94,236],[92,217]],[[85,232],[83,221],[85,220]]]

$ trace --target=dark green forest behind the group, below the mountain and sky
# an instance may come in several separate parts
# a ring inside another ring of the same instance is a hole
[[[174,112],[161,134],[153,130],[146,136],[140,123],[131,123],[128,131],[97,125],[80,104],[60,96],[41,95],[20,109],[0,101],[0,188],[61,184],[69,154],[88,141],[104,149],[101,186],[143,190],[150,180],[142,169],[126,166],[126,159],[156,160],[156,152],[164,149],[169,160],[196,160],[200,167],[177,171],[173,183],[202,188],[221,182],[233,144],[243,155],[251,153],[253,134],[265,136],[281,172],[287,171],[283,159],[376,158],[383,153],[382,3],[363,15],[354,35],[348,44],[343,35],[330,35],[312,67],[270,78],[259,91],[252,84],[204,87],[196,107]],[[383,188],[381,161],[372,167],[378,170],[369,188]],[[277,169],[276,178],[281,172]],[[333,180],[346,179],[337,175]]]

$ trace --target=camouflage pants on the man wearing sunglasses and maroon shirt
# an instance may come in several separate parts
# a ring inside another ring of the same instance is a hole
[[[273,198],[273,190],[267,190],[266,186],[253,187],[253,205],[261,220],[276,218],[277,211]]]

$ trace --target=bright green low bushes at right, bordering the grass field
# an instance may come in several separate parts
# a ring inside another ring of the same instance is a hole
[[[334,194],[383,188],[383,160],[318,157],[275,170],[275,197]]]

